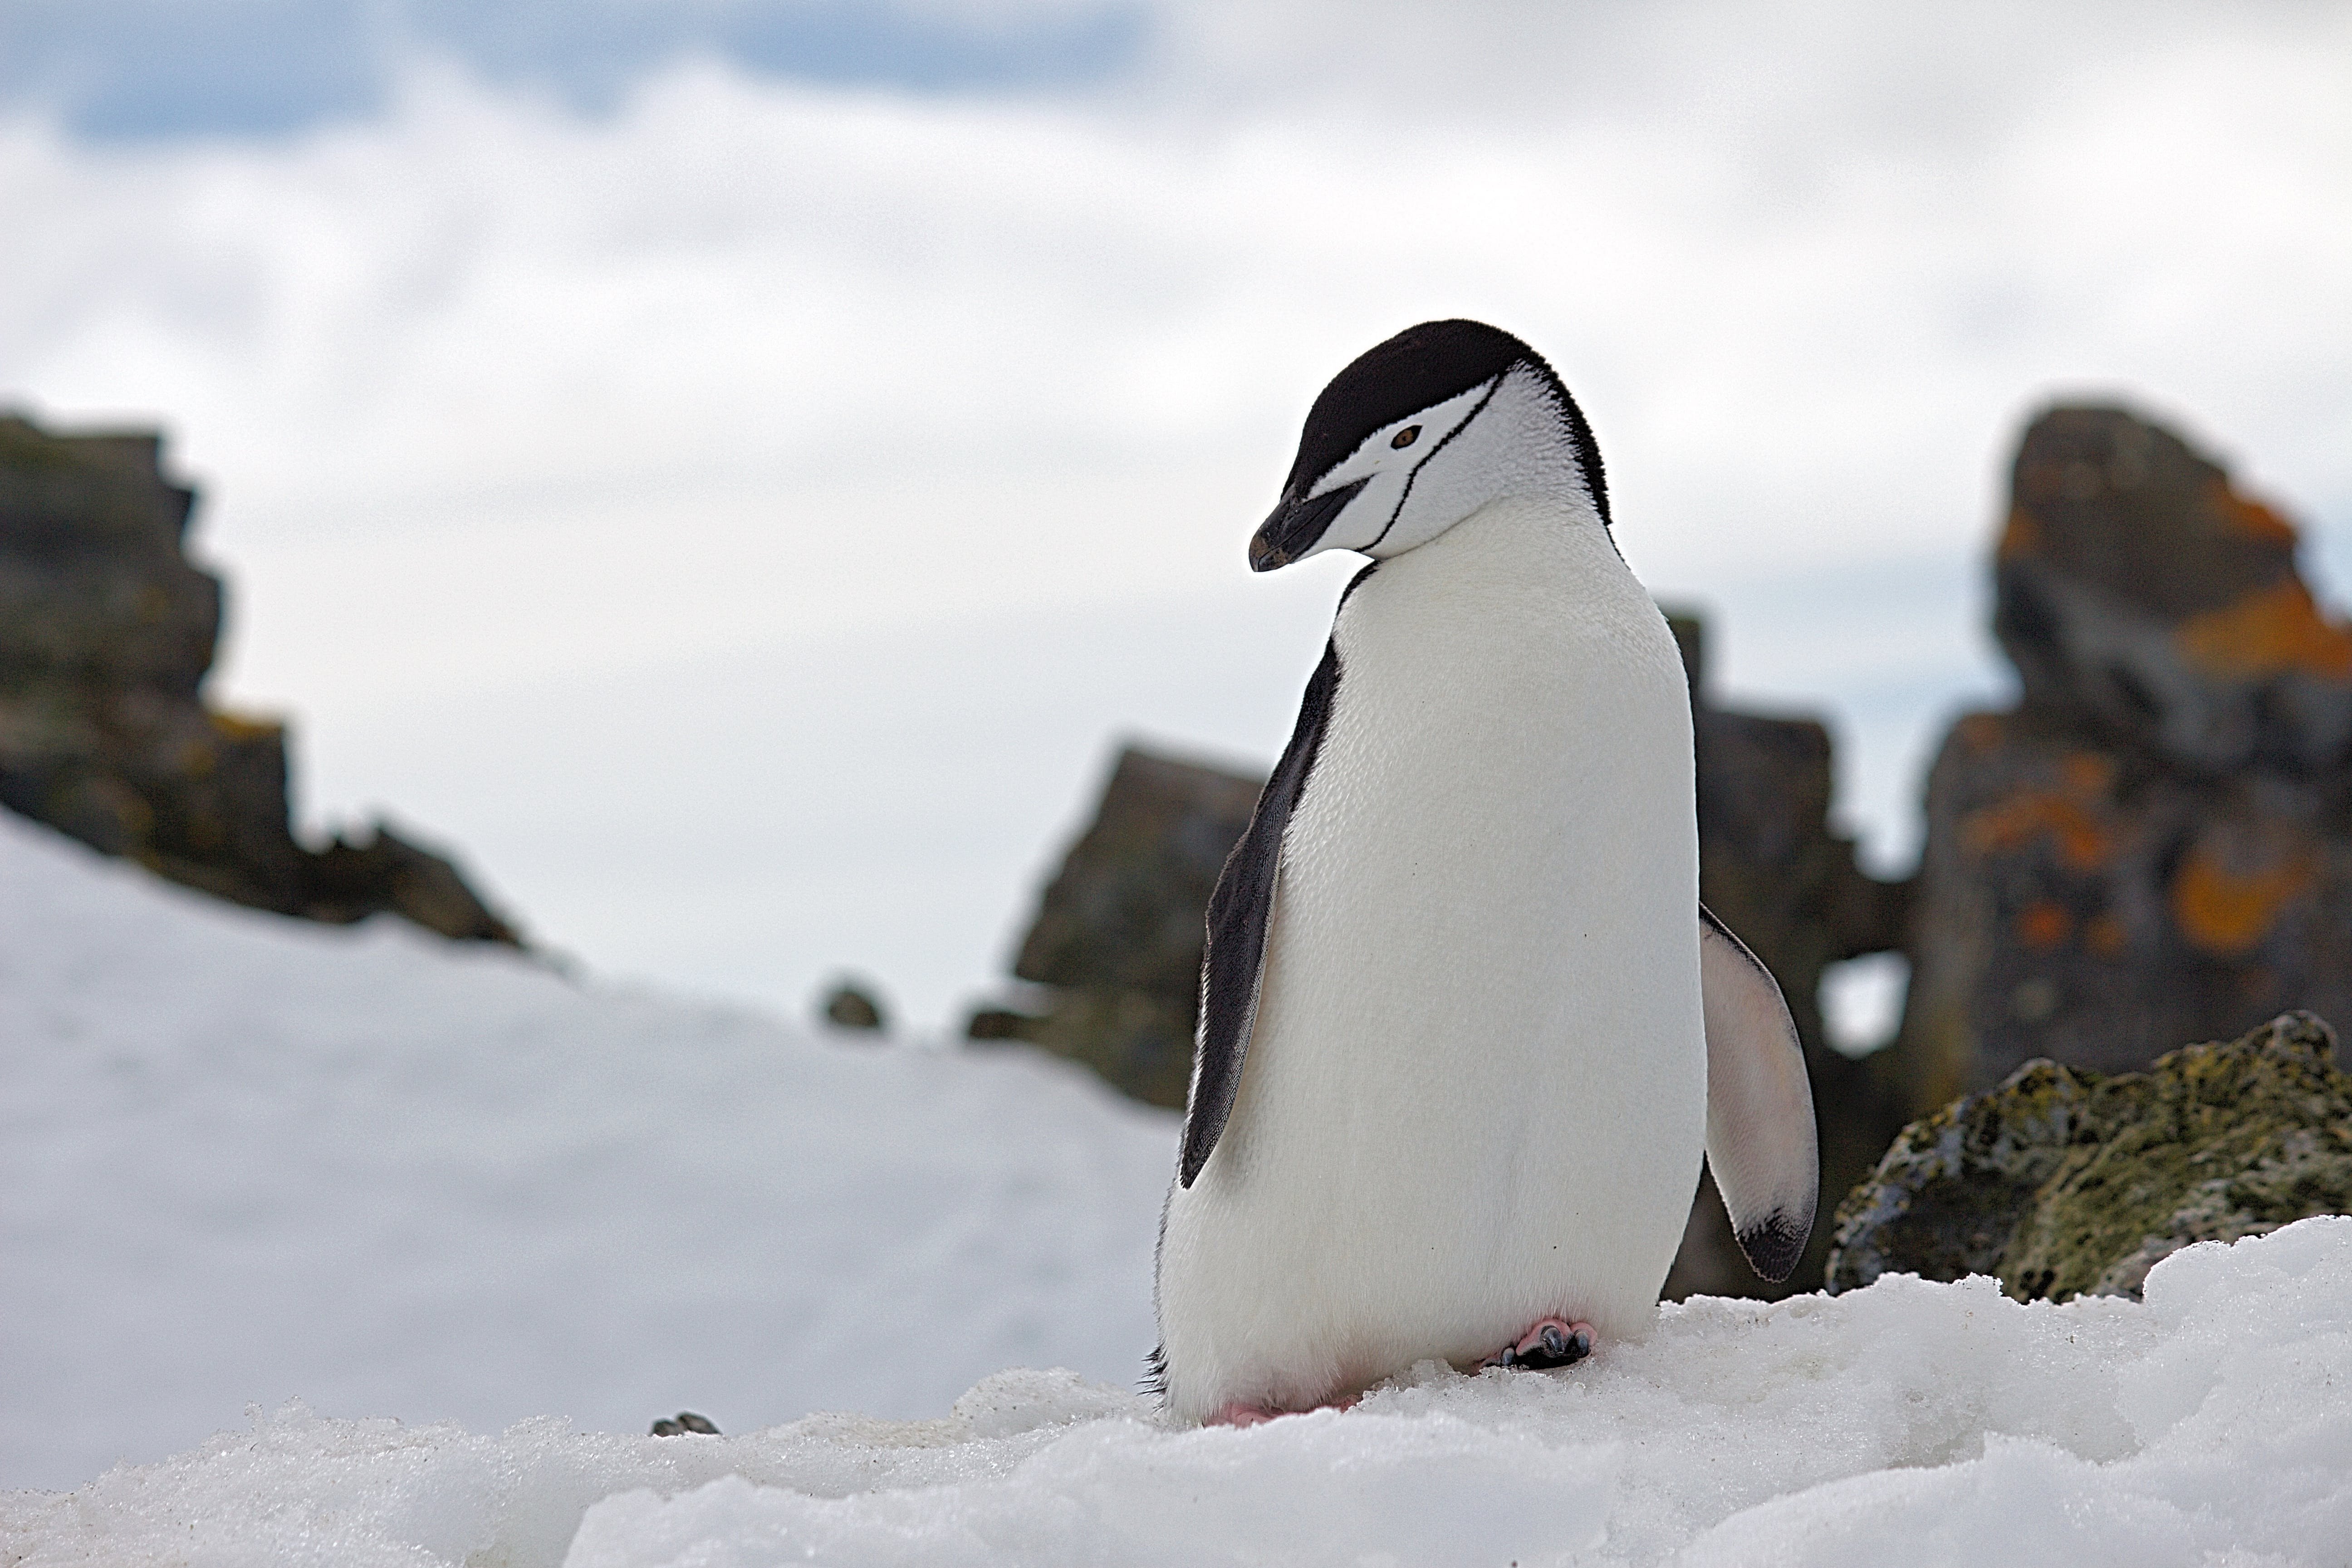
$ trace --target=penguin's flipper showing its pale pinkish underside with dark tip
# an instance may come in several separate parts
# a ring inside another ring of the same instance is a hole
[[[1780,1284],[1804,1255],[1820,1199],[1813,1086],[1780,983],[1698,905],[1708,1013],[1708,1168],[1748,1265]]]

